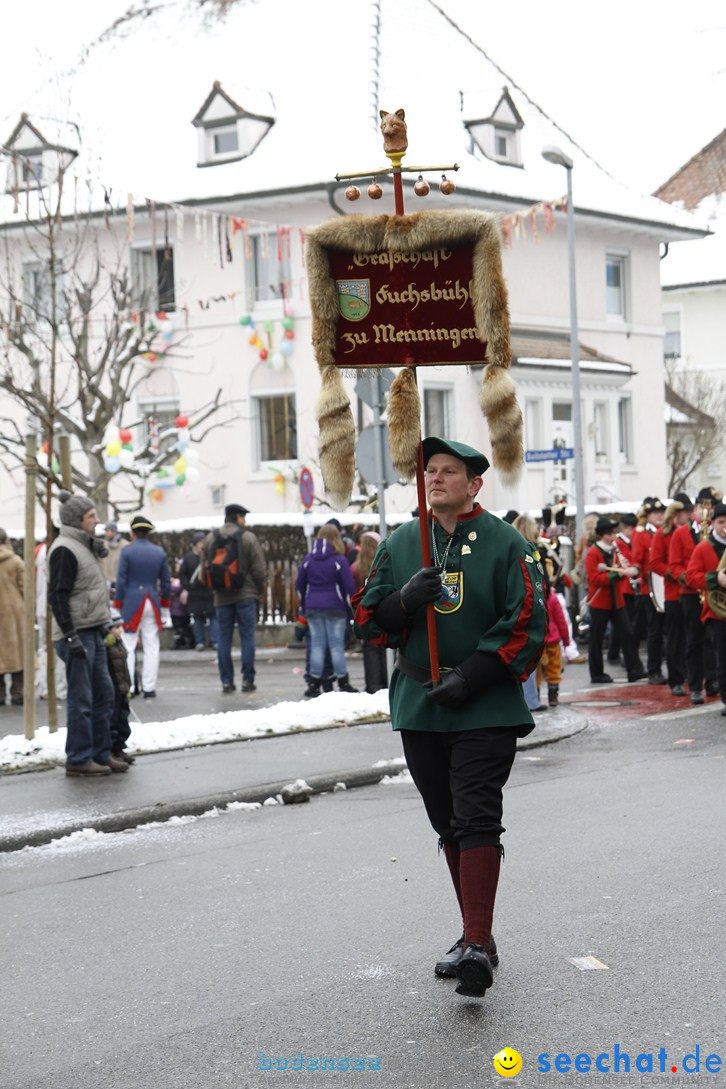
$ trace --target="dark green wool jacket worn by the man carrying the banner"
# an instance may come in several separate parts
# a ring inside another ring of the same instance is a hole
[[[447,535],[429,513],[443,555]],[[433,551],[433,550],[432,550]],[[418,519],[399,526],[381,541],[370,575],[356,595],[356,634],[370,643],[395,647],[416,665],[429,669],[426,609],[419,609],[401,633],[384,632],[376,622],[377,605],[421,567]],[[391,680],[394,730],[450,732],[487,726],[515,726],[520,736],[534,729],[521,690],[539,661],[546,633],[542,564],[537,549],[477,504],[460,516],[446,560],[446,591],[435,604],[439,661],[459,665],[477,650],[496,654],[508,677],[472,696],[463,707],[444,708],[427,699],[419,681],[401,670]]]

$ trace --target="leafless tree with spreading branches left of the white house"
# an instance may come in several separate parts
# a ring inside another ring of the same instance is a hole
[[[72,487],[91,497],[103,517],[109,505],[114,513],[137,509],[152,474],[179,456],[170,441],[175,428],[157,437],[146,420],[126,421],[135,456],[119,475],[136,485],[136,494],[124,501],[110,497],[116,474],[106,465],[108,432],[151,367],[183,358],[185,337],[160,340],[165,315],[157,285],[141,291],[133,282],[125,231],[114,230],[112,209],[65,221],[63,184],[61,170],[52,187],[38,188],[34,218],[26,216],[20,230],[0,229],[0,391],[12,402],[0,415],[0,461],[9,469],[22,465],[28,426],[40,432],[47,465],[44,458],[39,473],[49,511],[51,486],[61,486],[58,436],[69,435],[75,448]],[[221,408],[218,389],[188,413],[190,435],[200,440],[230,423],[229,415],[220,417]]]

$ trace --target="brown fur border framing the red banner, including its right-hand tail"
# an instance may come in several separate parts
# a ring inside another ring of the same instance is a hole
[[[334,363],[339,309],[328,250],[406,253],[436,246],[473,247],[472,307],[480,340],[487,343],[487,367],[480,404],[489,424],[492,462],[505,482],[516,481],[524,464],[522,418],[515,386],[503,370],[512,364],[507,290],[502,272],[502,243],[495,216],[473,210],[434,210],[410,216],[344,216],[305,233],[305,256],[312,310],[312,344],[321,375]],[[410,396],[409,383],[403,391]],[[397,391],[399,392],[399,391]],[[418,442],[419,415],[398,416],[394,465],[408,475],[410,450]],[[407,428],[410,433],[406,433]],[[322,436],[321,436],[322,441]],[[396,457],[399,458],[396,462]],[[353,490],[354,476],[350,477]]]

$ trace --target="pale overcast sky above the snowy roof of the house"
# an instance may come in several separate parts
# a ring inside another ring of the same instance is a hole
[[[3,125],[12,129],[27,95],[50,69],[74,63],[116,16],[144,2],[24,0],[12,4],[12,14],[4,4]],[[386,3],[409,0],[381,2],[385,17]],[[652,192],[726,125],[724,0],[435,2],[574,139],[642,193]],[[309,0],[312,23],[315,7]],[[329,33],[343,44],[345,4],[341,15]],[[173,52],[168,62],[173,63]]]

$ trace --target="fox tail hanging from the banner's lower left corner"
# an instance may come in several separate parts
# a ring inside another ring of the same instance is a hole
[[[356,472],[356,425],[350,401],[335,366],[325,367],[316,405],[320,430],[318,450],[325,492],[333,506],[348,505]]]

